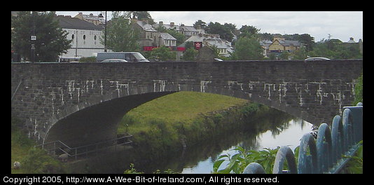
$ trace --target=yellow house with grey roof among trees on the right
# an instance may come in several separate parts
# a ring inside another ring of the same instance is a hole
[[[272,44],[269,46],[270,52],[293,52],[300,49],[301,43],[299,41],[288,41],[282,38],[274,38]]]

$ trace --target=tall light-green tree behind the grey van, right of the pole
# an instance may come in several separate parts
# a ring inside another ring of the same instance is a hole
[[[133,29],[130,20],[120,12],[113,12],[106,27],[106,46],[113,51],[135,51],[139,50],[138,38],[139,33]],[[103,38],[100,41],[104,44]]]

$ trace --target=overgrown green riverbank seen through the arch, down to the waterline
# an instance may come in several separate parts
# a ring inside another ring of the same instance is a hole
[[[141,158],[143,161],[140,163],[145,164],[145,161],[151,163],[207,141],[218,139],[224,142],[228,133],[237,133],[244,128],[254,133],[267,130],[282,132],[280,123],[293,118],[284,115],[262,104],[234,97],[179,92],[129,111],[120,122],[118,135],[125,133],[128,125],[130,134],[134,136],[132,155]],[[261,124],[256,124],[259,118]],[[279,126],[275,126],[275,122],[279,122]],[[214,150],[214,147],[209,145],[208,148]],[[137,170],[142,171],[139,160],[130,162],[137,163]]]

